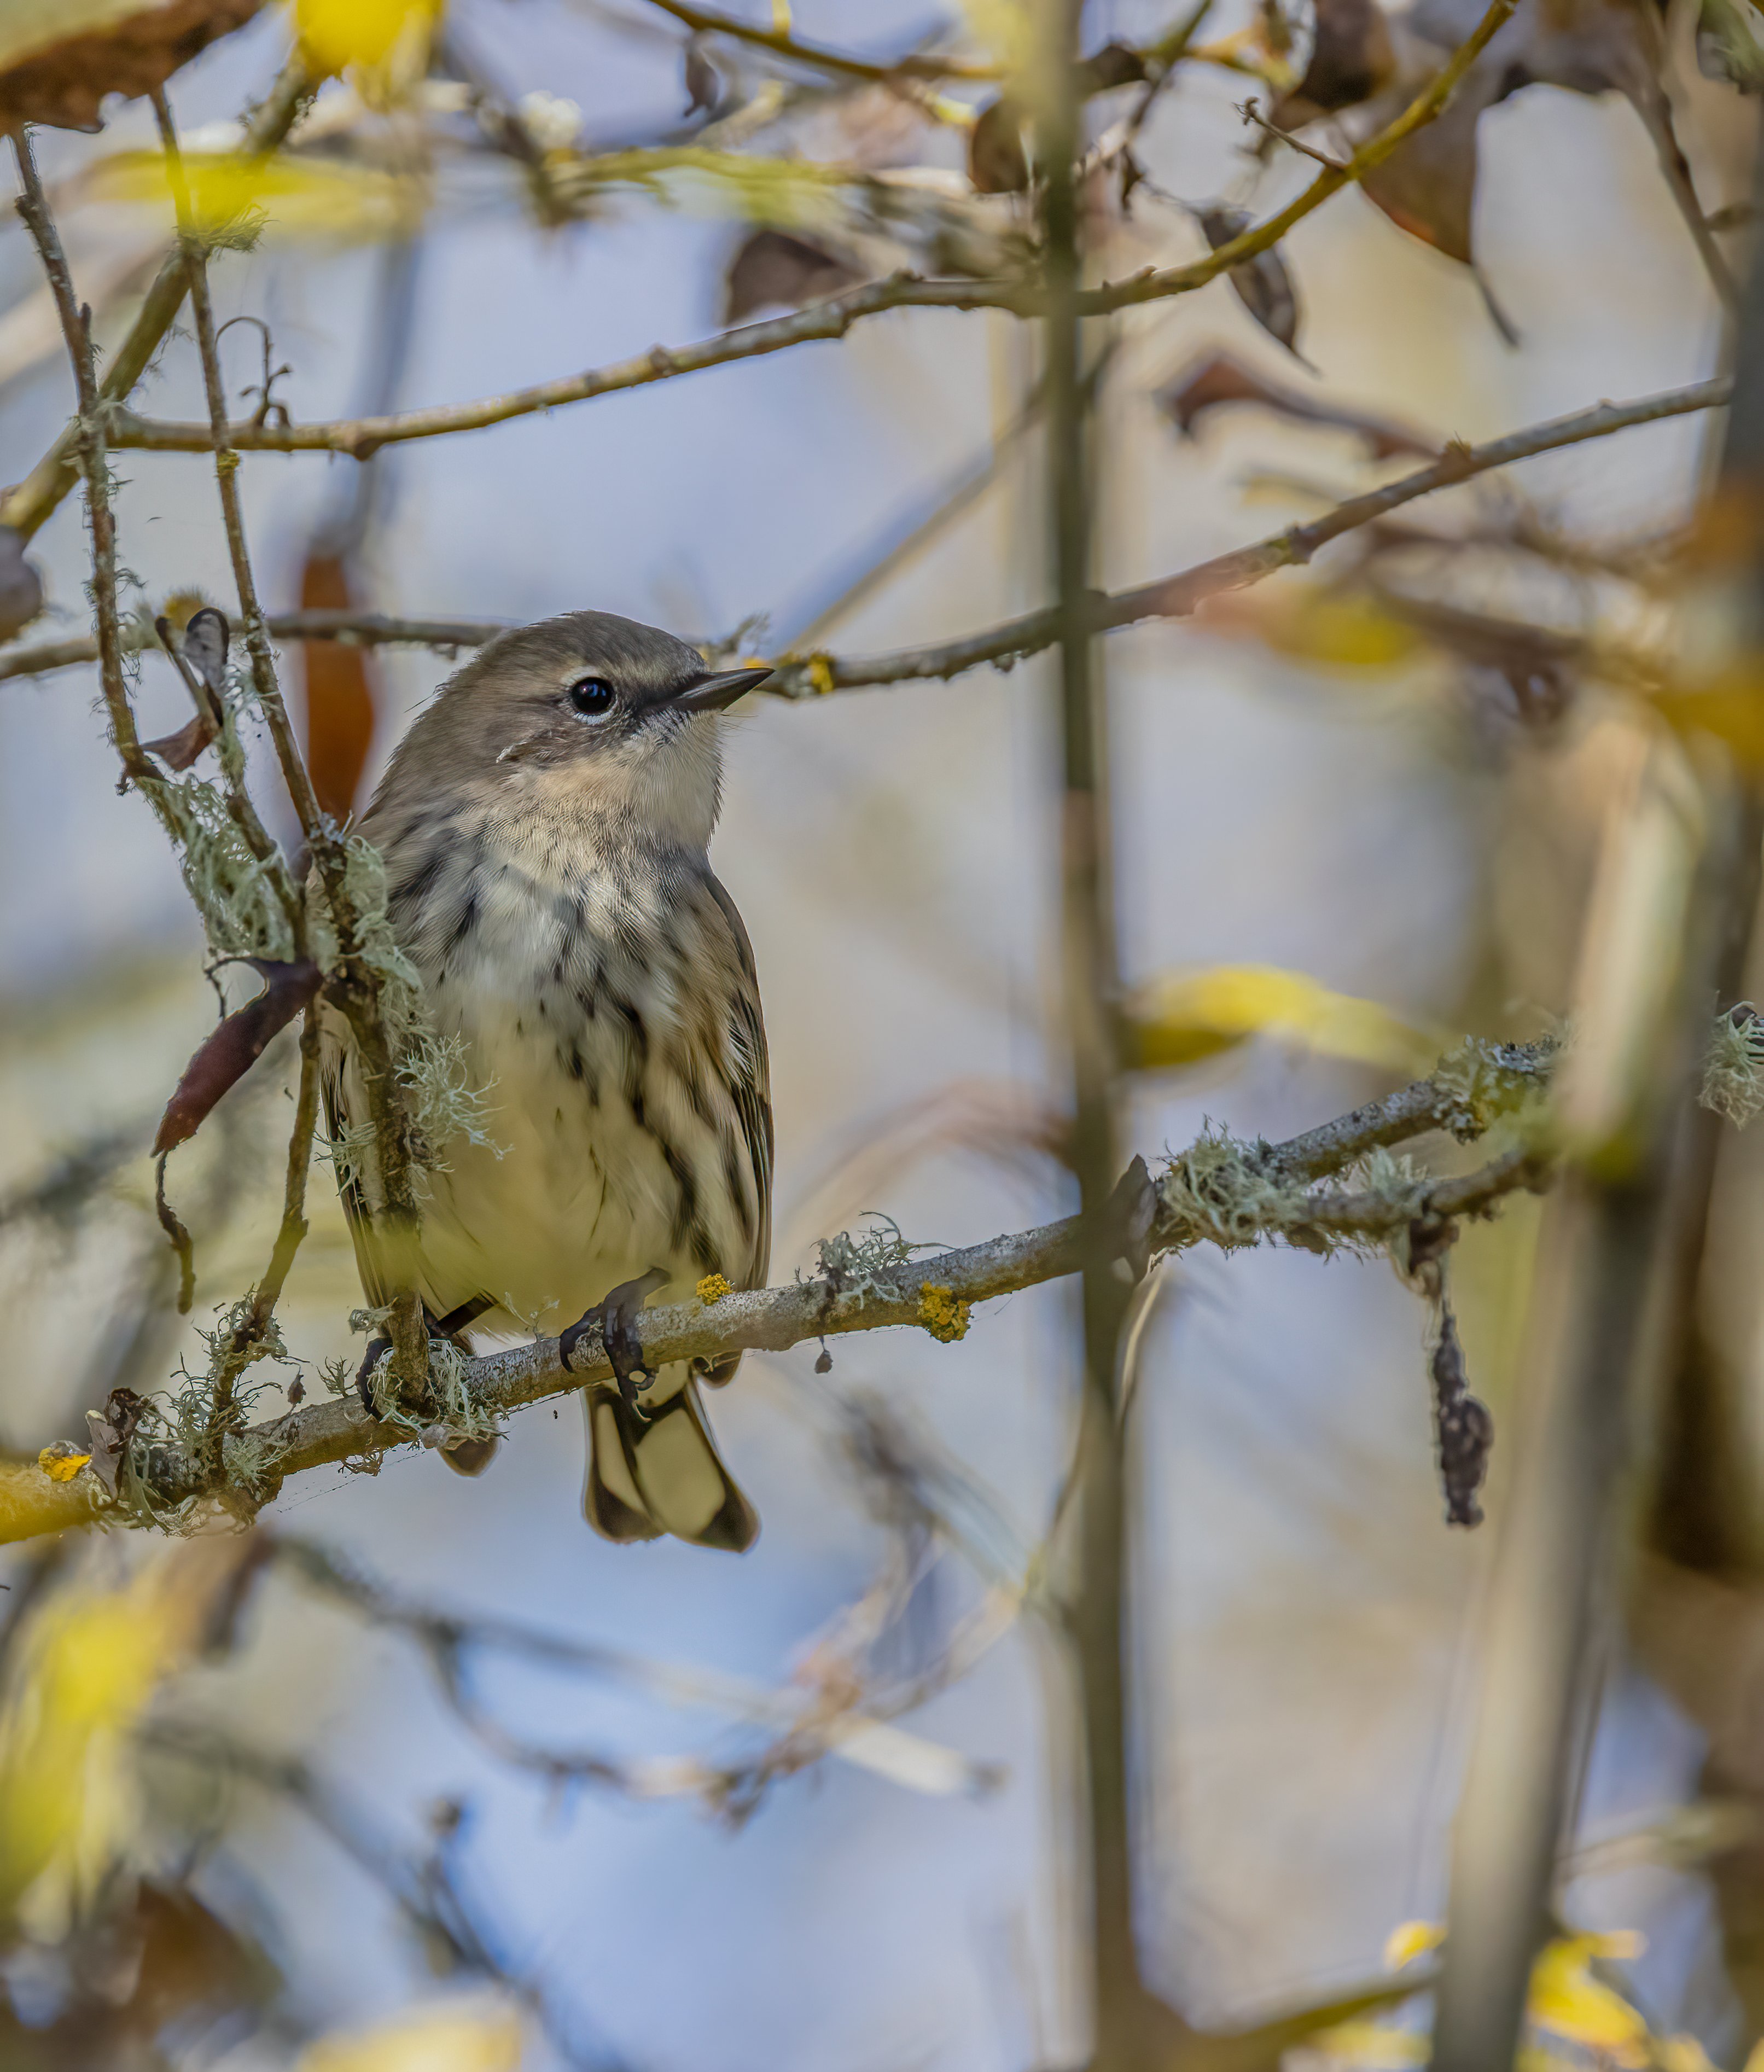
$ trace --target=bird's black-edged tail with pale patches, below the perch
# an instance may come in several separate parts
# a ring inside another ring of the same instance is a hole
[[[688,1361],[665,1365],[634,1411],[614,1382],[582,1390],[589,1486],[582,1510],[605,1539],[674,1533],[701,1548],[744,1554],[759,1513],[723,1467]]]

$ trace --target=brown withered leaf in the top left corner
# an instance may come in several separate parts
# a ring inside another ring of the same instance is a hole
[[[10,0],[0,120],[102,128],[106,93],[151,93],[263,0]]]

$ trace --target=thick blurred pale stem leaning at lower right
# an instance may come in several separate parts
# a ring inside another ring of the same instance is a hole
[[[1617,1490],[1660,1343],[1685,1214],[1689,1080],[1735,879],[1741,814],[1635,729],[1613,798],[1559,1092],[1577,1169],[1550,1204],[1521,1365],[1513,1486],[1488,1598],[1482,1691],[1457,1807],[1436,2072],[1513,2064],[1550,1927],[1596,1701],[1594,1610]]]

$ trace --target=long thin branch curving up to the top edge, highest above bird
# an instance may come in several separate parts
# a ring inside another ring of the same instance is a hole
[[[1322,207],[1331,195],[1372,172],[1399,143],[1426,122],[1432,122],[1515,6],[1517,0],[1492,0],[1474,35],[1453,56],[1451,64],[1416,95],[1395,122],[1360,145],[1345,164],[1325,168],[1277,215],[1271,215],[1264,224],[1254,224],[1242,236],[1231,238],[1229,244],[1221,244],[1217,251],[1188,265],[1146,267],[1128,280],[1086,288],[1076,298],[1078,315],[1105,317],[1115,309],[1157,303],[1171,294],[1190,294],[1221,274],[1229,274],[1231,267],[1254,259],[1258,253],[1271,251],[1312,209]],[[589,398],[609,396],[620,390],[649,387],[674,375],[701,373],[707,367],[728,367],[732,361],[761,358],[769,352],[784,352],[790,346],[815,340],[844,338],[854,323],[881,315],[887,309],[999,309],[1016,317],[1041,317],[1047,313],[1047,290],[1032,278],[922,280],[916,274],[891,274],[887,280],[869,282],[846,294],[829,296],[788,317],[746,323],[740,329],[721,332],[692,346],[653,346],[649,352],[616,361],[611,367],[562,375],[556,381],[541,381],[535,387],[508,390],[502,396],[485,396],[477,402],[437,404],[427,410],[398,410],[390,416],[334,419],[315,425],[228,425],[224,443],[234,452],[332,452],[367,460],[381,445],[396,441],[435,439],[456,431],[483,431],[489,425],[504,425],[514,416],[558,410],[564,404],[587,402]],[[168,423],[131,412],[118,412],[112,429],[114,445],[162,454],[207,454],[214,452],[216,441],[218,433],[209,425]],[[4,518],[4,510],[0,510],[0,518]]]

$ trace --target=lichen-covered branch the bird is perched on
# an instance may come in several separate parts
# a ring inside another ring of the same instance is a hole
[[[1208,1133],[1169,1160],[1159,1179],[1153,1247],[1182,1251],[1217,1243],[1235,1249],[1281,1241],[1312,1251],[1376,1249],[1416,1218],[1488,1214],[1507,1193],[1536,1187],[1548,1173],[1546,1140],[1524,1125],[1524,1111],[1544,1092],[1550,1061],[1546,1044],[1470,1042],[1441,1059],[1426,1080],[1285,1144],[1242,1144]],[[1391,1144],[1430,1131],[1474,1138],[1503,1117],[1521,1119],[1519,1142],[1474,1173],[1426,1177],[1376,1164]],[[1325,1177],[1349,1185],[1318,1187]],[[852,1241],[844,1243],[854,1249]],[[1065,1218],[956,1251],[893,1256],[860,1272],[844,1268],[786,1287],[736,1291],[713,1303],[645,1310],[638,1339],[647,1365],[709,1361],[738,1349],[784,1351],[806,1339],[893,1326],[958,1339],[968,1330],[974,1303],[1059,1280],[1078,1268],[1078,1218]],[[564,1368],[556,1339],[539,1339],[464,1361],[458,1384],[473,1413],[493,1419],[609,1374],[611,1363],[589,1334],[576,1347],[574,1368]],[[301,1405],[238,1434],[228,1459],[234,1467],[251,1465],[249,1488],[216,1481],[193,1448],[147,1438],[135,1440],[135,1473],[162,1513],[201,1498],[249,1510],[286,1475],[369,1461],[408,1440],[408,1426],[369,1417],[350,1388],[338,1401]],[[0,1465],[0,1542],[60,1531],[95,1517],[104,1502],[91,1473],[52,1481],[37,1467]]]

